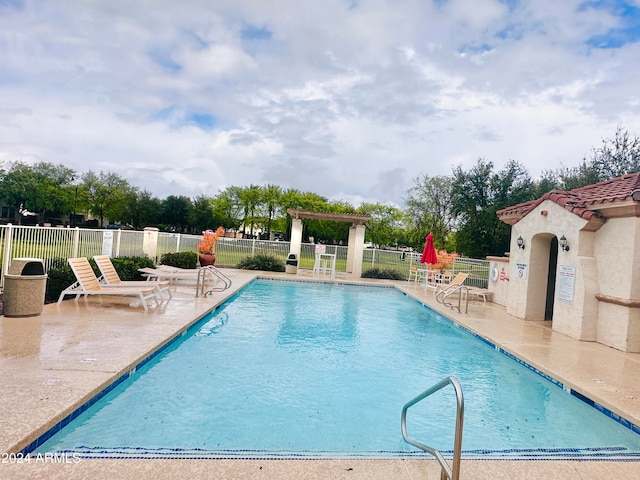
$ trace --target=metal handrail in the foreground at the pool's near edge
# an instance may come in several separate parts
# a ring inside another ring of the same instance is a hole
[[[417,440],[414,440],[409,437],[407,434],[407,410],[409,407],[412,407],[416,403],[424,400],[429,395],[437,392],[438,390],[446,387],[448,384],[453,385],[453,389],[456,392],[456,427],[455,427],[455,437],[453,440],[453,467],[449,466],[447,461],[444,459],[442,454],[436,450],[435,448],[429,447],[424,443],[421,443]],[[414,447],[418,447],[421,450],[424,450],[427,453],[430,453],[442,468],[442,472],[440,475],[441,480],[449,479],[449,480],[459,480],[460,478],[460,457],[462,454],[462,424],[464,420],[464,396],[462,395],[462,387],[460,383],[455,377],[447,377],[444,380],[439,381],[433,387],[425,390],[420,395],[415,397],[413,400],[410,400],[402,407],[402,416],[400,418],[400,427],[402,428],[402,438],[404,438],[405,442],[413,445]]]

